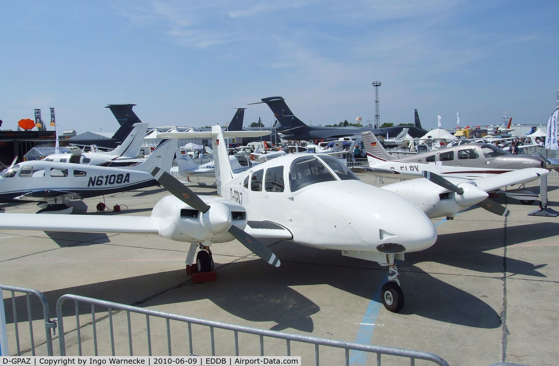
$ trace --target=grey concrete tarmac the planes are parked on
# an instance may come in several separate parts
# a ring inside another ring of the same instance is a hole
[[[549,207],[559,210],[559,178],[548,180]],[[216,192],[214,186],[187,184],[200,194]],[[528,187],[539,191],[536,184]],[[74,213],[149,216],[167,194],[154,187],[106,196],[108,207],[127,206],[121,212],[97,213],[103,197],[86,199],[74,203]],[[155,235],[2,230],[0,283],[39,289],[49,300],[51,317],[58,298],[72,293],[262,329],[429,351],[451,365],[558,364],[559,218],[527,216],[537,210],[537,202],[525,206],[494,199],[511,210],[509,217],[476,208],[452,221],[433,220],[437,243],[406,255],[399,268],[405,307],[398,314],[380,303],[387,271],[378,264],[281,240],[266,241],[281,259],[280,268],[259,260],[237,241],[214,244],[217,281],[193,284],[184,271],[188,243]],[[356,197],[348,204],[358,207],[358,202]],[[36,211],[32,203],[3,207],[13,213]],[[11,293],[3,291],[3,297],[10,353],[15,354]],[[31,305],[37,354],[46,354],[42,310],[35,301]],[[16,307],[20,348],[30,355],[25,296],[16,297]],[[79,313],[82,351],[92,355],[91,307],[80,306]],[[96,309],[100,355],[111,354],[106,315],[106,308]],[[116,354],[128,355],[126,312],[113,313],[112,322]],[[78,354],[76,327],[74,304],[67,302],[68,355]],[[165,322],[153,320],[150,327],[153,355],[167,355]],[[188,354],[186,325],[172,322],[171,330],[172,354]],[[134,355],[148,354],[145,316],[132,314],[131,333]],[[193,335],[193,353],[210,354],[209,330],[193,326]],[[55,354],[57,338],[58,333]],[[217,354],[234,354],[232,332],[216,330],[215,339]],[[241,355],[259,354],[257,336],[241,335],[239,340]],[[266,340],[265,353],[285,355],[285,347],[284,341]],[[314,364],[313,346],[292,345],[291,354]],[[320,350],[320,364],[343,364],[343,357],[343,350]],[[352,365],[375,360],[375,355],[350,354]],[[383,365],[409,364],[382,360]]]

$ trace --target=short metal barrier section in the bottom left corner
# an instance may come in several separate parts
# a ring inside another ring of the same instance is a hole
[[[20,346],[20,330],[18,327],[17,322],[17,309],[16,309],[16,292],[25,293],[25,298],[27,302],[27,320],[29,322],[29,340],[30,340],[30,349],[31,354],[35,356],[35,337],[33,334],[33,318],[31,313],[31,298],[29,295],[35,295],[39,298],[39,301],[42,305],[42,312],[43,312],[43,319],[45,322],[45,344],[46,344],[46,351],[47,355],[53,355],[53,340],[50,335],[50,330],[56,327],[56,323],[50,320],[49,316],[49,302],[46,300],[46,297],[42,292],[32,289],[32,288],[25,288],[25,287],[15,287],[15,286],[7,286],[0,284],[0,294],[2,290],[11,291],[12,292],[12,311],[13,311],[13,325],[15,326],[15,341],[16,341],[16,349],[17,355],[21,355],[21,346]],[[2,296],[3,301],[3,296]]]

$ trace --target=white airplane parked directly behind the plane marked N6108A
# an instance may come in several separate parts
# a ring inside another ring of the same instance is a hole
[[[75,163],[101,165],[102,167],[126,167],[141,164],[144,159],[138,159],[141,144],[144,142],[145,133],[149,123],[134,123],[134,127],[122,144],[111,151],[97,151],[83,153],[77,146],[68,146],[72,154],[51,154],[45,161],[59,161],[60,163]]]

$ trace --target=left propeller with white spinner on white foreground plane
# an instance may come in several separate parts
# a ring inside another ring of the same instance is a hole
[[[200,197],[196,195],[196,193],[192,192],[190,188],[184,186],[179,180],[173,178],[167,172],[162,172],[159,168],[153,169],[151,175],[161,184],[167,191],[169,191],[173,196],[180,199],[182,202],[186,203],[188,206],[194,208],[202,212],[200,217],[200,221],[203,226],[206,227],[207,230],[214,232],[214,234],[218,234],[226,229],[229,226],[227,231],[229,234],[233,235],[236,240],[239,240],[239,243],[243,244],[247,247],[248,250],[252,251],[254,254],[258,255],[267,263],[273,265],[274,267],[280,267],[280,259],[272,253],[271,250],[258,239],[253,237],[252,235],[248,234],[244,230],[239,229],[238,227],[231,225],[231,212],[220,202],[212,203],[211,206],[207,205],[206,202],[202,201]],[[215,207],[216,212],[210,212],[214,210],[210,210],[212,207]],[[224,212],[227,210],[227,212]],[[212,215],[215,213],[214,215]],[[206,215],[207,214],[207,215]],[[206,217],[207,216],[207,217]],[[229,225],[226,225],[229,222]],[[218,230],[212,230],[218,229]]]

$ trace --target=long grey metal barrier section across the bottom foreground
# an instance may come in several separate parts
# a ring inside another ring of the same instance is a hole
[[[133,355],[133,342],[132,342],[132,325],[131,325],[131,313],[145,315],[145,327],[140,331],[136,330],[135,334],[139,334],[140,332],[146,332],[146,348],[148,355],[151,356],[152,351],[152,336],[151,336],[151,324],[150,319],[151,317],[156,317],[159,319],[165,320],[165,334],[167,335],[167,353],[169,356],[172,355],[172,342],[171,342],[171,331],[170,331],[170,321],[179,321],[182,323],[186,323],[187,325],[187,332],[188,332],[188,350],[191,355],[194,355],[193,349],[193,331],[192,325],[201,325],[205,327],[209,327],[210,330],[210,345],[211,345],[211,355],[216,355],[216,344],[215,344],[215,330],[228,330],[233,331],[233,343],[234,343],[234,352],[235,355],[239,355],[239,334],[250,334],[250,335],[258,335],[260,339],[260,355],[264,355],[264,337],[273,338],[273,339],[280,339],[285,340],[285,347],[286,347],[286,355],[291,355],[291,346],[292,342],[296,343],[304,343],[304,344],[311,344],[314,345],[314,355],[315,355],[315,364],[320,364],[320,346],[326,346],[329,348],[335,349],[343,349],[345,350],[345,365],[349,365],[349,351],[356,350],[356,351],[363,351],[366,353],[375,353],[377,365],[381,365],[381,356],[382,355],[391,355],[401,358],[409,359],[410,365],[415,364],[415,360],[427,360],[429,362],[433,362],[437,365],[448,366],[448,363],[440,358],[439,356],[423,352],[423,351],[415,351],[415,350],[408,350],[408,349],[399,349],[399,348],[392,348],[392,347],[385,347],[385,346],[376,346],[376,345],[365,345],[359,343],[352,343],[352,342],[344,342],[340,340],[333,340],[333,339],[326,339],[326,338],[317,338],[312,336],[306,335],[297,335],[297,334],[290,334],[286,332],[278,332],[273,330],[264,330],[258,329],[248,326],[241,326],[241,325],[233,325],[227,324],[223,322],[217,321],[210,321],[210,320],[203,320],[198,319],[195,317],[184,316],[184,315],[176,315],[172,313],[165,313],[130,305],[123,305],[116,302],[110,301],[103,301],[97,300],[94,298],[78,296],[73,294],[66,294],[58,300],[56,303],[56,316],[58,319],[58,330],[59,330],[59,346],[60,346],[60,355],[66,355],[67,346],[65,344],[65,337],[69,332],[64,332],[64,313],[63,313],[63,303],[66,300],[70,300],[74,302],[74,311],[75,311],[75,325],[77,330],[77,344],[78,344],[78,354],[82,355],[82,335],[80,334],[80,308],[79,303],[86,303],[91,306],[91,323],[93,328],[93,350],[94,355],[98,355],[98,340],[97,340],[97,323],[101,320],[105,320],[108,318],[108,331],[110,334],[110,346],[111,346],[111,354],[115,355],[115,330],[114,330],[114,322],[113,315],[121,312],[126,311],[126,325],[127,325],[127,338],[128,338],[128,348],[129,354]],[[107,315],[103,316],[102,319],[96,320],[96,307],[104,307],[107,308]],[[120,322],[119,322],[120,324]],[[199,338],[196,338],[198,340]],[[186,341],[185,341],[186,342]],[[274,354],[277,355],[277,354]]]

